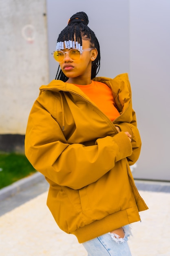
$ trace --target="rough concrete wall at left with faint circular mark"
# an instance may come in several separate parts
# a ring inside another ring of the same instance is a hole
[[[0,135],[24,135],[47,55],[46,0],[0,0]]]

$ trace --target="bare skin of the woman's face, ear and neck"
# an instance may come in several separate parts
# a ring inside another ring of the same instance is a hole
[[[83,49],[91,47],[89,40],[82,39]],[[64,49],[63,52],[67,52]],[[75,84],[90,84],[91,83],[91,65],[92,61],[97,57],[97,49],[92,49],[89,52],[82,52],[78,61],[72,61],[68,54],[65,54],[64,61],[60,62],[62,72],[68,77],[68,83]]]

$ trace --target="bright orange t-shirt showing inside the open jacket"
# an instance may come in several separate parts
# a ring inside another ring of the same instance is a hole
[[[117,108],[115,108],[115,100],[112,91],[105,83],[92,81],[89,85],[76,86],[81,89],[111,121],[119,117],[120,114]]]

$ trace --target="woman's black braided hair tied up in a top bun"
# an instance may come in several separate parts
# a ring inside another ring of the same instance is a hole
[[[88,16],[85,12],[77,12],[68,20],[68,25],[61,31],[58,36],[58,42],[64,41],[76,41],[82,46],[82,38],[84,40],[90,40],[91,46],[97,49],[97,58],[92,62],[91,68],[91,79],[93,79],[100,68],[100,47],[99,42],[95,36],[95,33],[87,26],[88,25]],[[58,67],[57,74],[55,79],[62,80],[66,82],[68,77],[64,75],[62,70]]]

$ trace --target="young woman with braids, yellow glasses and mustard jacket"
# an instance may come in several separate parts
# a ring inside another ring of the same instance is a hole
[[[76,13],[57,39],[60,71],[40,87],[25,153],[50,184],[47,205],[57,225],[88,256],[129,256],[129,224],[148,209],[129,168],[141,139],[128,75],[96,77],[99,43],[87,25],[86,13]]]

